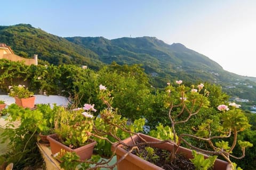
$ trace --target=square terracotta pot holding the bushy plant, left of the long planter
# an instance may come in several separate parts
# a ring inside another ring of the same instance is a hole
[[[56,154],[61,149],[64,149],[69,152],[76,152],[76,154],[80,157],[80,160],[90,159],[92,157],[94,145],[97,143],[96,141],[90,139],[91,143],[76,149],[71,149],[66,145],[63,145],[61,142],[55,140],[57,138],[57,134],[51,134],[47,136],[47,139],[50,142],[52,154]]]

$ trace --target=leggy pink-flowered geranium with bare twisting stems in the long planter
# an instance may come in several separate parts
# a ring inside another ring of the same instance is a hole
[[[209,91],[207,91],[206,89],[203,89],[204,84],[202,83],[199,84],[196,89],[195,86],[191,86],[191,88],[189,88],[189,87],[186,87],[185,85],[181,85],[182,83],[181,80],[176,81],[176,83],[178,84],[178,87],[173,87],[171,86],[170,83],[167,83],[167,87],[165,88],[166,94],[163,94],[164,107],[169,108],[169,113],[167,114],[169,117],[169,120],[171,121],[171,132],[169,129],[169,133],[173,133],[172,135],[169,135],[169,136],[172,138],[174,145],[176,146],[174,147],[174,151],[170,156],[171,161],[174,161],[175,154],[179,146],[181,145],[181,142],[184,142],[189,147],[200,150],[201,152],[204,152],[207,154],[221,155],[231,164],[230,156],[235,157],[231,155],[231,153],[237,144],[237,133],[250,128],[250,124],[248,123],[246,116],[242,113],[240,109],[237,109],[239,105],[235,103],[230,103],[229,104],[231,106],[230,111],[228,106],[226,105],[218,106],[219,111],[225,112],[221,114],[222,120],[221,122],[219,122],[220,125],[218,127],[219,128],[218,135],[212,136],[211,120],[205,120],[205,122],[202,122],[202,124],[199,125],[198,129],[196,130],[197,131],[196,134],[183,133],[178,135],[177,131],[175,131],[175,125],[187,123],[191,116],[197,115],[201,110],[201,108],[205,108],[205,109],[208,108],[210,103],[209,103],[209,100],[207,99],[207,97],[209,96]],[[101,112],[101,118],[103,118],[103,120],[110,125],[111,129],[115,127],[125,132],[128,132],[124,127],[119,125],[119,124],[123,124],[122,122],[118,124],[110,123],[113,120],[113,118],[116,116],[116,111],[113,110],[113,108],[111,107],[113,98],[110,97],[110,94],[109,92],[107,92],[106,89],[107,88],[104,87],[104,89],[100,91],[100,98],[108,107],[107,109],[105,109],[104,112]],[[151,132],[153,132],[153,134],[155,133],[156,135],[157,133],[162,132],[162,133],[165,133],[165,136],[166,136],[167,135],[166,130],[168,130],[168,128],[164,128],[164,126],[160,124],[157,127],[158,132],[157,131],[151,131]],[[132,132],[130,133],[134,134]],[[116,138],[115,136],[116,133],[113,132],[111,134],[112,134],[112,137]],[[223,139],[229,138],[231,134],[233,135],[234,139],[231,143],[231,146],[229,146],[229,143],[223,141]],[[212,151],[211,150],[209,151],[209,148],[204,150],[196,146],[193,146],[191,145],[191,143],[188,142],[188,139],[206,141],[208,142],[209,146],[212,148]],[[215,145],[214,145],[213,141],[217,141],[217,140],[219,141],[215,142]],[[169,139],[165,141],[170,142]],[[243,158],[245,156],[244,151],[246,147],[252,147],[252,144],[246,141],[238,140],[238,145],[241,147],[242,153],[243,153],[241,157],[236,157],[238,159]],[[195,161],[195,162],[198,162],[198,161]],[[205,165],[206,163],[203,163],[203,162],[201,163],[206,167]]]

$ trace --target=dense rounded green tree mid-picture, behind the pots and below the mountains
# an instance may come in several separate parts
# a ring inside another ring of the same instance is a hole
[[[117,67],[117,66],[116,66]],[[119,108],[122,116],[135,120],[151,112],[151,90],[140,74],[138,66],[118,66],[118,70],[105,67],[100,70],[98,82],[105,84],[113,96],[113,107]],[[139,70],[139,71],[138,71]],[[118,73],[121,72],[121,73]],[[135,74],[138,72],[138,75]]]

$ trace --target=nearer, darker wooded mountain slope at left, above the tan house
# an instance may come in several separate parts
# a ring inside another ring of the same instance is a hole
[[[31,57],[38,54],[40,60],[55,65],[67,63],[97,68],[101,64],[98,55],[90,49],[36,29],[30,24],[0,26],[0,42],[10,46],[17,55]]]

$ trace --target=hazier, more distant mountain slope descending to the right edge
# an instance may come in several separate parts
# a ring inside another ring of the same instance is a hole
[[[256,78],[225,71],[209,57],[179,43],[169,45],[155,37],[124,37],[113,40],[103,37],[66,39],[91,49],[99,55],[103,63],[110,64],[115,61],[118,64],[143,64],[154,87],[163,87],[167,81],[178,79],[211,82],[220,84],[231,96],[256,100]]]

